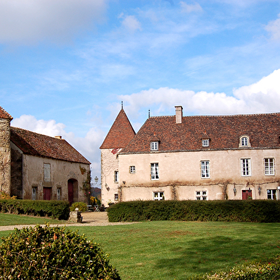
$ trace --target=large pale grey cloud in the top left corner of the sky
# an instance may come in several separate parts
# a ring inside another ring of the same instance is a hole
[[[107,0],[1,0],[0,43],[65,41],[101,21]]]

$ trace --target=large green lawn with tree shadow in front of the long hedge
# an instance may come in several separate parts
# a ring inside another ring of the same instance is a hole
[[[69,229],[101,244],[121,279],[188,279],[280,253],[280,224],[149,221]]]

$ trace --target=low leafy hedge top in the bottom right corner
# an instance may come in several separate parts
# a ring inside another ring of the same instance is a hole
[[[193,280],[278,280],[280,279],[280,256],[271,258],[266,261],[251,261],[247,264],[234,266],[227,271],[219,271],[216,274],[204,274],[202,276],[194,276]]]

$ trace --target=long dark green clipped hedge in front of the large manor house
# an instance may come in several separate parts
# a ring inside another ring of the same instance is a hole
[[[110,206],[109,221],[280,222],[280,201],[127,201]]]

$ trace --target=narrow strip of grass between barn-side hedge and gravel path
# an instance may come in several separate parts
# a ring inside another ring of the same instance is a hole
[[[62,224],[65,221],[49,219],[44,217],[26,216],[0,213],[0,226],[14,226],[17,224]]]

